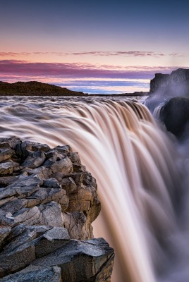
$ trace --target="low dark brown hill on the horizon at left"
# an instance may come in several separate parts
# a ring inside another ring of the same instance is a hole
[[[8,83],[0,81],[0,96],[84,96],[85,93],[68,90],[67,88],[47,83],[29,81]]]

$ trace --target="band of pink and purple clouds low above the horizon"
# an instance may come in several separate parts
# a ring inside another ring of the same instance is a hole
[[[170,73],[173,67],[111,66],[90,63],[31,63],[1,60],[0,80],[38,80],[88,93],[148,91],[154,73]]]

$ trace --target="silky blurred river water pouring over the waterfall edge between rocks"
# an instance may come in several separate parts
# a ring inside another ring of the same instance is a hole
[[[79,152],[103,207],[94,235],[115,248],[112,282],[181,282],[164,280],[170,238],[178,235],[176,152],[145,106],[131,99],[1,98],[0,121],[1,137]]]

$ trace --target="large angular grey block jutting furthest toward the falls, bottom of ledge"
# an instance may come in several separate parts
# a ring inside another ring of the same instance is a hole
[[[108,281],[113,264],[114,250],[102,238],[88,241],[70,240],[51,254],[35,259],[34,266],[59,266],[63,282]],[[102,278],[100,280],[99,272]],[[98,280],[96,280],[98,277]]]

